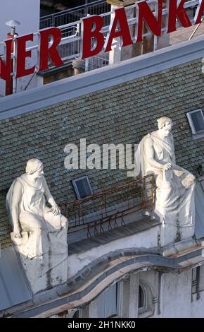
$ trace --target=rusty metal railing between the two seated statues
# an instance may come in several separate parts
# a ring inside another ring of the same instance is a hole
[[[125,225],[141,210],[153,211],[153,174],[134,182],[115,186],[83,199],[60,204],[61,213],[68,218],[68,233],[86,231],[92,237],[106,230]]]

